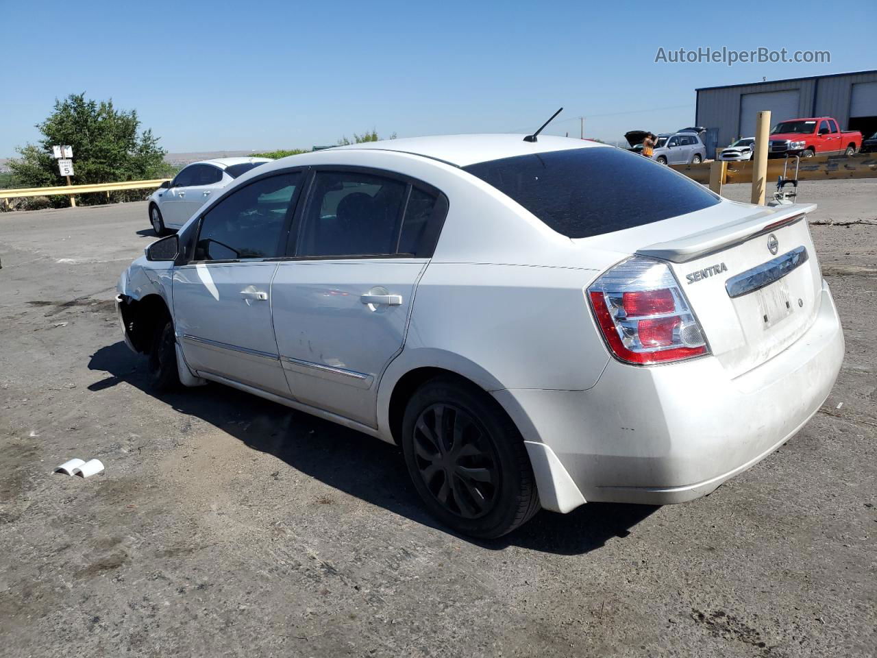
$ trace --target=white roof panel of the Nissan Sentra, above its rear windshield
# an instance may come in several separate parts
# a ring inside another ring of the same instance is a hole
[[[381,150],[423,155],[433,160],[447,162],[457,167],[466,167],[475,162],[502,160],[516,155],[564,151],[572,148],[605,147],[608,145],[589,139],[572,139],[539,135],[537,141],[524,141],[520,134],[474,134],[474,135],[436,135],[432,137],[410,137],[403,139],[384,139],[382,141],[351,144],[346,147],[325,149],[320,153],[340,150]]]

